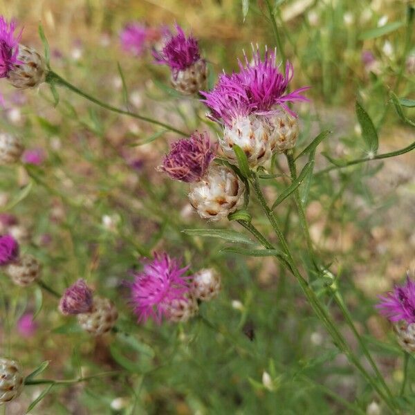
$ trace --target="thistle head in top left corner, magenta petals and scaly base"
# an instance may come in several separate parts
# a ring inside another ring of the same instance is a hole
[[[33,88],[46,79],[46,63],[36,50],[19,44],[16,22],[0,16],[0,77],[19,89]]]

